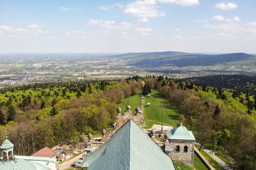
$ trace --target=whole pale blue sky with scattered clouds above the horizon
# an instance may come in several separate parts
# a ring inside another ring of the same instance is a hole
[[[256,53],[255,0],[1,0],[0,53]]]

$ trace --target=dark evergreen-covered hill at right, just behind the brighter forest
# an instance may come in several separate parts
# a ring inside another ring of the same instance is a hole
[[[211,87],[233,89],[242,93],[256,94],[256,77],[248,75],[215,75],[191,77],[182,79],[187,82],[193,81],[198,84],[207,84]]]

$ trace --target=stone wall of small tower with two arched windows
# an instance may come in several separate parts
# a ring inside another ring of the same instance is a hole
[[[194,141],[170,140],[169,142],[173,150],[169,155],[173,161],[194,167]],[[179,152],[176,152],[176,146],[180,146]],[[188,152],[184,152],[184,146],[188,147]]]

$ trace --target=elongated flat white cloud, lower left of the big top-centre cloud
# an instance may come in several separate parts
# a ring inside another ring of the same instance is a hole
[[[104,28],[109,28],[109,29],[129,29],[132,28],[132,24],[128,23],[127,21],[121,22],[119,25],[115,25],[114,21],[105,21],[103,20],[90,20],[87,25],[100,25],[101,27]]]

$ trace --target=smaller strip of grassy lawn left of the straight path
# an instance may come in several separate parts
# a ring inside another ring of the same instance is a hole
[[[124,99],[124,101],[122,103],[118,104],[118,106],[120,106],[121,109],[122,109],[121,114],[124,114],[124,111],[127,110],[126,104],[128,104],[127,99]],[[140,94],[131,96],[129,98],[129,105],[131,106],[130,110],[132,111],[133,114],[136,114],[135,108],[137,106],[139,106],[139,108],[140,108],[140,104],[141,104]]]

